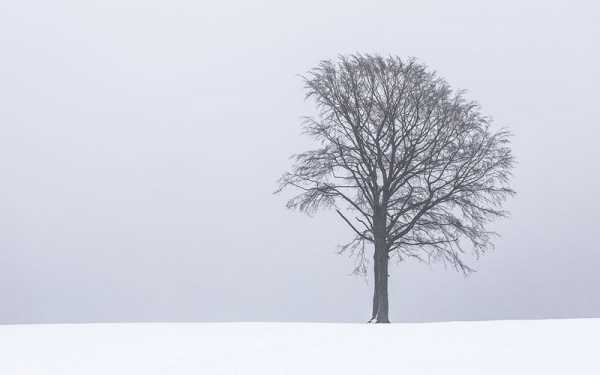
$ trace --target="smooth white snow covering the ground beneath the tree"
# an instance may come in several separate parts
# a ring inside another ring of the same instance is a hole
[[[600,374],[600,319],[0,326],[0,374]]]

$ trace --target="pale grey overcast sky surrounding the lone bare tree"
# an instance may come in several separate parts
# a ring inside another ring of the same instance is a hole
[[[310,147],[298,77],[415,56],[515,134],[509,220],[468,278],[392,267],[393,321],[600,317],[593,1],[4,1],[0,323],[365,321],[332,213],[273,196]]]

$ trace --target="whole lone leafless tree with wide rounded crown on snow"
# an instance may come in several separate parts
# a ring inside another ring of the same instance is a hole
[[[288,208],[336,210],[354,234],[342,251],[358,256],[355,271],[366,272],[373,244],[370,321],[388,323],[390,255],[468,273],[465,247],[493,246],[486,225],[514,194],[510,135],[414,59],[342,56],[304,82],[318,115],[303,127],[320,147],[294,156],[277,191],[300,190]]]

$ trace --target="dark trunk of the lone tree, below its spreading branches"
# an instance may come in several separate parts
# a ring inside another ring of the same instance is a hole
[[[389,323],[388,304],[388,246],[385,238],[385,214],[377,212],[374,215],[375,253],[373,255],[374,290],[373,314],[371,321]]]

